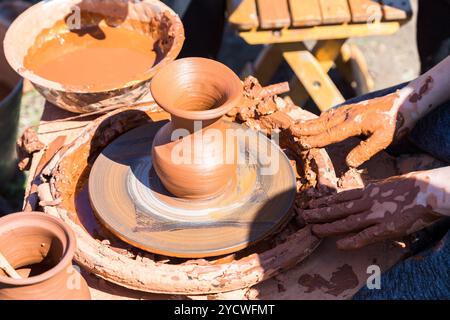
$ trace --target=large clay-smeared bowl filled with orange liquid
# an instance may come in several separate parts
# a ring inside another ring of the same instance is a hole
[[[140,39],[137,42],[142,44],[138,48],[134,48],[134,34],[137,40]],[[11,67],[30,80],[48,101],[76,113],[135,103],[148,94],[150,79],[161,67],[177,57],[183,42],[184,29],[180,18],[168,6],[156,0],[42,1],[14,21],[4,41],[5,55]],[[79,50],[85,50],[88,44],[94,46],[91,48],[93,50],[80,53]],[[132,47],[134,51],[130,51]],[[58,54],[55,55],[55,52]],[[89,59],[90,53],[92,59]],[[103,55],[105,59],[102,59]],[[95,83],[80,81],[86,78],[83,74],[91,71],[89,64],[95,67],[98,65],[95,63],[97,60],[101,64],[111,60],[112,56],[123,55],[129,55],[130,58],[112,63],[111,68],[99,67],[99,70],[106,68],[109,71],[92,77],[97,79]],[[31,63],[33,59],[30,57],[35,58],[34,63]],[[133,57],[148,61],[139,64]],[[66,66],[71,70],[68,67],[70,63],[65,63],[64,59],[74,61],[70,59],[75,58],[80,68],[58,74],[59,69],[65,69],[58,66]],[[54,63],[49,64],[49,61]],[[130,73],[127,64],[144,67]],[[49,67],[45,70],[35,69],[44,65]],[[53,70],[50,70],[51,66]],[[76,74],[77,71],[79,74]],[[50,79],[47,74],[55,78]],[[116,76],[108,79],[114,74]]]

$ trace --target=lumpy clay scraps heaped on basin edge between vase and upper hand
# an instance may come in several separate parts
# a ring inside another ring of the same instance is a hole
[[[289,97],[283,99],[278,96],[287,91],[287,83],[262,87],[256,78],[248,77],[244,81],[244,98],[241,104],[228,115],[268,136],[279,135],[280,146],[293,161],[296,171],[301,173],[298,191],[308,190],[309,196],[312,193],[319,196],[336,191],[337,180],[333,164],[325,150],[303,150],[289,130],[296,122],[315,116],[296,106]]]

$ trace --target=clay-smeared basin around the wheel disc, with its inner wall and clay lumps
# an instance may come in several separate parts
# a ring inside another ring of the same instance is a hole
[[[274,88],[265,91],[273,94],[278,90]],[[283,149],[298,173],[298,195],[292,208],[294,212],[312,196],[329,192],[328,189],[321,191],[318,188],[320,181],[326,181],[331,189],[336,190],[334,169],[326,152],[317,149],[298,153],[292,137],[283,136],[291,119],[306,119],[311,114],[296,107],[289,99],[277,96],[258,99],[244,94],[244,99],[248,100],[248,105],[256,105],[260,110],[258,115],[248,118],[246,123],[249,126],[254,129],[263,129],[265,126],[270,132],[282,135]],[[275,108],[270,107],[272,102]],[[261,103],[268,103],[269,107],[260,106]],[[107,233],[88,233],[88,226],[78,219],[75,199],[86,183],[90,166],[101,149],[122,133],[151,122],[151,119],[158,121],[164,118],[157,111],[155,106],[124,108],[95,120],[72,144],[64,147],[44,170],[48,184],[42,185],[41,189],[50,189],[50,200],[61,199],[59,205],[46,206],[44,209],[59,215],[74,229],[79,243],[75,260],[83,268],[126,288],[159,293],[209,294],[251,287],[297,264],[319,245],[320,240],[311,233],[311,228],[305,227],[297,219],[292,219],[276,235],[255,246],[233,255],[208,259],[186,260],[151,255],[126,247]],[[271,116],[275,113],[275,116]],[[287,122],[283,125],[283,121],[279,122],[275,118],[278,116]],[[266,122],[262,122],[263,119]],[[95,220],[91,222],[95,223]]]

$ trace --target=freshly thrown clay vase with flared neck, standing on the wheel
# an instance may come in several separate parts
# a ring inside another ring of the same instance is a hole
[[[150,90],[172,117],[153,141],[153,167],[163,185],[187,199],[223,192],[236,177],[236,139],[226,139],[223,116],[241,101],[238,76],[214,60],[185,58],[164,67]]]

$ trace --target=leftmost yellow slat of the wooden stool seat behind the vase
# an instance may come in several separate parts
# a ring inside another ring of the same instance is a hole
[[[259,25],[255,0],[228,0],[228,22],[240,30],[250,30]]]

